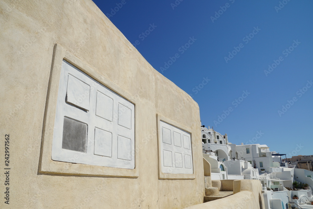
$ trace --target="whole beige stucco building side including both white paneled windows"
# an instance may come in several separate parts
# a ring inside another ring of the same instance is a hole
[[[203,202],[198,104],[91,0],[3,0],[0,11],[0,153],[8,141],[10,168],[0,208]]]

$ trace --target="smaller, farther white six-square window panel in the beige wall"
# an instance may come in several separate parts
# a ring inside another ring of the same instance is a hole
[[[193,174],[190,133],[163,121],[160,128],[162,172]]]

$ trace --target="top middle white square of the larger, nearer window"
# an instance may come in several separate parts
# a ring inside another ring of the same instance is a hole
[[[113,99],[97,91],[96,115],[112,122]]]

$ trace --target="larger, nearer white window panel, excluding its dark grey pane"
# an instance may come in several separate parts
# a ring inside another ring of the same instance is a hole
[[[63,162],[134,169],[134,111],[134,104],[63,61],[51,158]],[[62,149],[64,117],[87,124],[85,153]],[[120,143],[118,137],[122,138]]]

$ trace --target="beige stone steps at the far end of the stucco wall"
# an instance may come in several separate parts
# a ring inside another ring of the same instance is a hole
[[[213,201],[227,197],[233,194],[233,191],[219,191],[218,187],[212,186],[212,181],[210,176],[204,176],[205,185],[205,196],[203,202]]]

